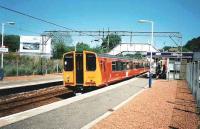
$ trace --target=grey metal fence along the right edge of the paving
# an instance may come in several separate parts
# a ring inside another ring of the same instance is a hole
[[[200,108],[200,61],[187,64],[186,80]]]

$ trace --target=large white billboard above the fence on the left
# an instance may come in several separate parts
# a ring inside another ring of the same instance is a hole
[[[20,36],[20,55],[52,56],[51,38],[42,36]]]

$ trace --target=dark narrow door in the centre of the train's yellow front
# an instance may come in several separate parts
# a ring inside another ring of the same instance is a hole
[[[83,84],[83,53],[76,53],[76,83]]]

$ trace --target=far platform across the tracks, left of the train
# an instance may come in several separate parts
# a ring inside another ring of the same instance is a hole
[[[62,74],[5,77],[3,81],[0,81],[0,90],[50,83],[55,81],[62,81]]]

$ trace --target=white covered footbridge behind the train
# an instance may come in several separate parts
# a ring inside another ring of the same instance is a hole
[[[108,54],[117,55],[117,54],[135,54],[136,52],[141,52],[146,54],[147,52],[159,52],[155,47],[151,46],[148,43],[121,43],[115,46]]]

